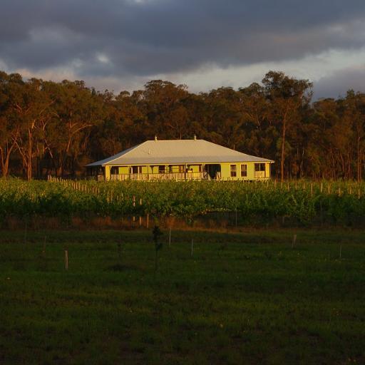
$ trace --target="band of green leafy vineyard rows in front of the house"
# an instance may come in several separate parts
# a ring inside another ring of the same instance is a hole
[[[361,224],[365,183],[307,180],[277,183],[96,182],[0,180],[0,218],[178,217],[211,213],[240,220],[277,218],[299,224]]]

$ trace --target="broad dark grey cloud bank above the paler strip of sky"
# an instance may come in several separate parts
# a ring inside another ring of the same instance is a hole
[[[365,1],[3,0],[0,59],[148,76],[364,46]]]

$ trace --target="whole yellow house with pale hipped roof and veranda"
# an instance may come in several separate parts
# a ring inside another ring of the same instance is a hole
[[[86,165],[98,180],[267,180],[274,163],[207,140],[146,140]]]

